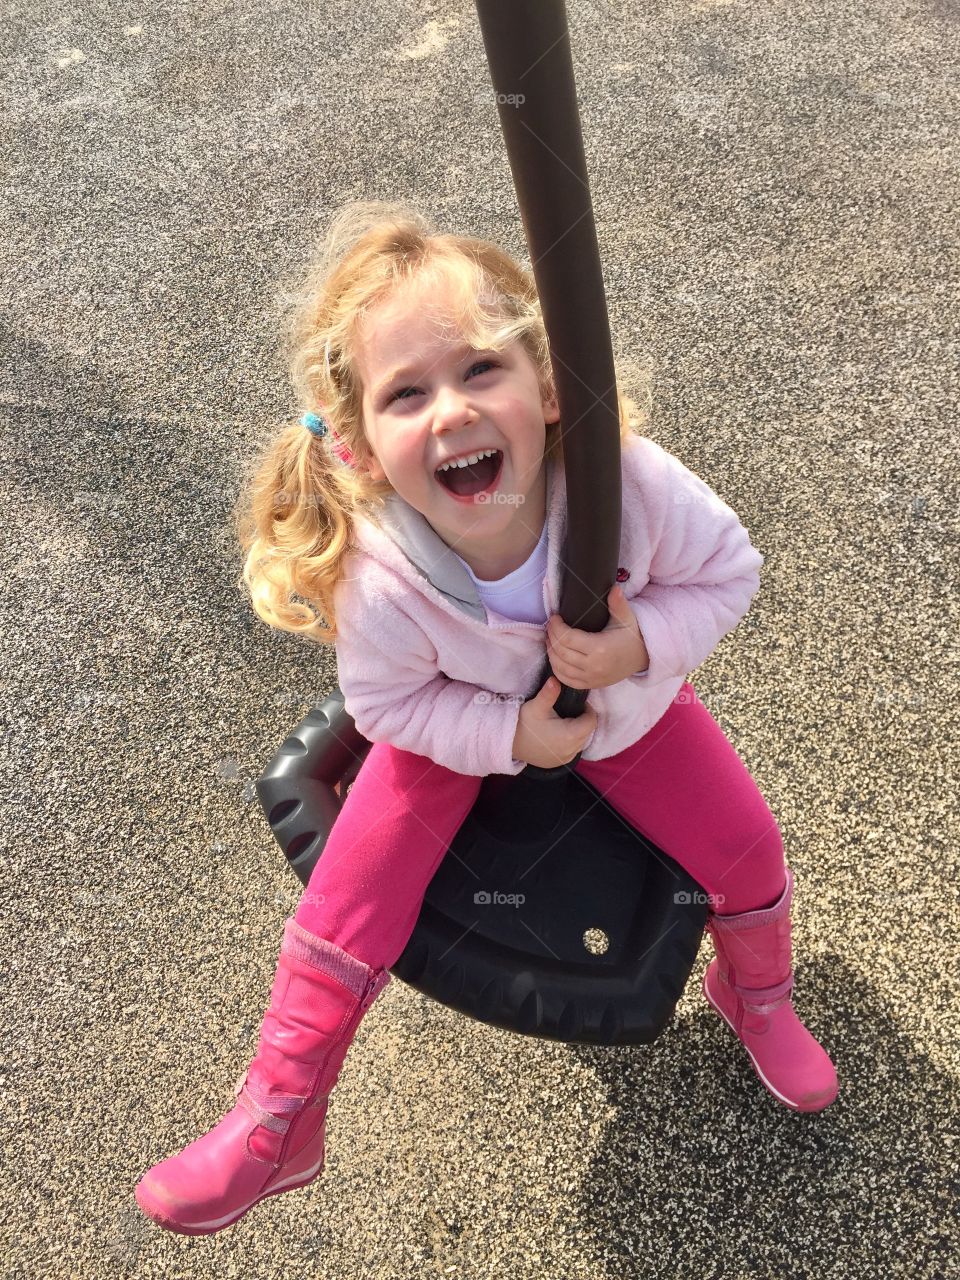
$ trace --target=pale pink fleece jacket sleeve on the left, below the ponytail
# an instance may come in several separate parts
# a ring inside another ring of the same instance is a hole
[[[520,773],[513,739],[522,699],[439,671],[436,649],[393,598],[389,573],[371,564],[365,559],[362,570],[387,589],[367,590],[355,577],[335,602],[338,682],[357,730],[456,773]]]

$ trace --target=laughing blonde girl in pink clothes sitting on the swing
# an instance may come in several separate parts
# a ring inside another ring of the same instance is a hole
[[[355,204],[307,275],[292,337],[307,412],[247,486],[243,581],[270,626],[335,643],[372,746],[285,924],[237,1105],[143,1175],[143,1212],[206,1234],[317,1176],[347,1050],[483,777],[579,751],[576,769],[707,888],[704,996],[762,1083],[795,1111],[823,1110],[837,1079],[791,1002],[781,835],[685,678],[759,586],[763,557],[736,515],[634,430],[620,394],[609,623],[568,627],[563,429],[530,274],[410,206]],[[544,654],[591,691],[581,716],[554,712],[558,680],[538,692]]]

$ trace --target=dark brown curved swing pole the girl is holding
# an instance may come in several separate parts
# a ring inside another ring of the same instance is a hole
[[[559,614],[602,631],[621,534],[620,410],[573,60],[563,0],[475,0],[520,216],[543,311],[561,411],[567,536]],[[549,660],[538,685],[552,675]],[[558,677],[559,678],[559,677]],[[584,712],[589,690],[561,681],[558,716]],[[477,809],[488,829],[536,838],[562,817],[580,753],[553,769],[527,764],[507,792],[492,776]],[[507,803],[507,796],[509,801]]]

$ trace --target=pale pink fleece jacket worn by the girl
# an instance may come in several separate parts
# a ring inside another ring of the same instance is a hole
[[[649,667],[589,692],[598,719],[585,760],[643,737],[760,585],[763,556],[735,512],[654,440],[625,440],[622,485],[617,579]],[[559,609],[566,513],[563,466],[549,462],[547,617]],[[399,494],[355,522],[351,548],[334,608],[338,680],[357,730],[456,773],[520,773],[513,737],[541,684],[547,623],[488,609],[460,558]]]

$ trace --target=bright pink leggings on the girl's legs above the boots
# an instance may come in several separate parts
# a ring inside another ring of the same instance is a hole
[[[722,915],[768,906],[785,883],[777,820],[686,681],[632,746],[576,764],[626,820],[681,864]],[[372,968],[396,964],[483,778],[375,742],[296,910]]]

